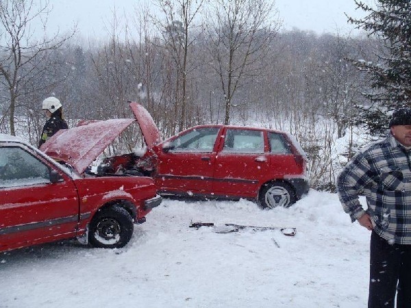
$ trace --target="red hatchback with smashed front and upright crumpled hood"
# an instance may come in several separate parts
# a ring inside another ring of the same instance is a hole
[[[267,208],[289,207],[308,192],[306,155],[288,133],[201,125],[162,141],[147,110],[130,107],[147,151],[105,159],[98,169],[103,174],[153,177],[162,195],[249,198]]]

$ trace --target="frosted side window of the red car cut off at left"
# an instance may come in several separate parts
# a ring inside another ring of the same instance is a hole
[[[50,183],[47,165],[21,148],[0,148],[0,188],[38,183]]]

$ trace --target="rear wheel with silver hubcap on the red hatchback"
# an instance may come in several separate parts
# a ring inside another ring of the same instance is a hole
[[[264,209],[290,207],[297,202],[297,195],[288,183],[274,181],[263,185],[260,191],[259,201]]]

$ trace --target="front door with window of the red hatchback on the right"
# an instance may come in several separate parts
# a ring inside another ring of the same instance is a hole
[[[156,183],[162,192],[209,194],[219,127],[196,127],[164,142]]]

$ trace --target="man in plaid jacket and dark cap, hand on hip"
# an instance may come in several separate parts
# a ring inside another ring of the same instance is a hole
[[[411,108],[393,113],[388,136],[340,173],[343,209],[371,230],[369,308],[411,307]],[[366,196],[364,210],[358,196]]]

